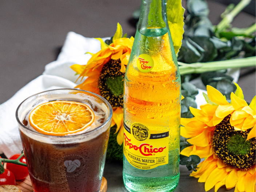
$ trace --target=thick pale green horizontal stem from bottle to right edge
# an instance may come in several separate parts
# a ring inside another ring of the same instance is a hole
[[[253,67],[256,65],[256,57],[246,57],[241,59],[231,59],[225,61],[212,61],[208,63],[185,64],[178,62],[180,75],[188,73],[203,73],[208,71],[218,71],[228,68]]]

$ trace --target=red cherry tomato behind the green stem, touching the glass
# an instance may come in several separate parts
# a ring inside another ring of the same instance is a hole
[[[18,159],[21,154],[12,155],[9,159]],[[25,157],[20,158],[21,163],[26,163]],[[22,165],[16,165],[13,163],[6,163],[6,168],[13,172],[16,180],[25,179],[28,176],[28,168]]]

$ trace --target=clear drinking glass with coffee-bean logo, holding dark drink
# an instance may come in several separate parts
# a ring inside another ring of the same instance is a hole
[[[105,120],[88,132],[65,136],[44,135],[25,126],[24,117],[33,106],[54,100],[87,102],[93,111],[104,108]],[[77,89],[45,91],[25,99],[17,108],[16,119],[34,192],[100,191],[112,119],[107,100]]]

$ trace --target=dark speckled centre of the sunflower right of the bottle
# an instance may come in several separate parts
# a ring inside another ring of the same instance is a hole
[[[214,129],[212,147],[225,164],[247,170],[255,165],[255,137],[246,141],[251,129],[235,131],[229,123],[230,117],[225,117]]]

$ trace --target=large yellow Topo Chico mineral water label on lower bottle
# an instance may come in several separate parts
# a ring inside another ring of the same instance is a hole
[[[141,123],[129,128],[124,123],[124,155],[138,169],[153,169],[168,164],[169,131],[151,133]]]

